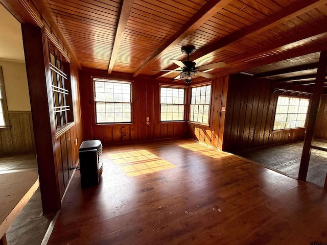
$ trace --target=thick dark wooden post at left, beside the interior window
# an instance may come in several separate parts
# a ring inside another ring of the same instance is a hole
[[[48,40],[44,27],[32,24],[22,24],[22,36],[43,213],[52,213],[60,209],[61,199],[53,140],[54,117],[50,109],[51,87],[47,85],[50,81]]]

